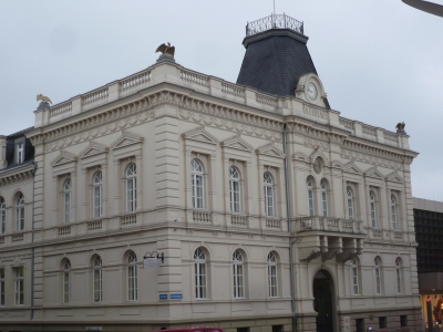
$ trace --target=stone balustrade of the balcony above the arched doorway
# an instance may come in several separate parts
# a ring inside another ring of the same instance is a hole
[[[292,219],[292,222],[295,222],[293,229],[296,232],[331,231],[364,235],[363,221],[361,220],[313,216],[296,218]]]

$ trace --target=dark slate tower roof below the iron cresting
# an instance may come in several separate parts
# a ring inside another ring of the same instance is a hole
[[[271,29],[245,38],[246,48],[237,84],[276,96],[295,96],[298,79],[317,74],[308,38],[289,29]],[[329,108],[329,103],[326,101]]]

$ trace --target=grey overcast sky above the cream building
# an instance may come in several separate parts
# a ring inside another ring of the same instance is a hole
[[[272,0],[0,0],[0,134],[33,125],[37,94],[56,104],[122,79],[164,42],[183,66],[236,82],[246,22],[271,11]],[[305,22],[332,108],[390,131],[404,121],[420,153],[413,196],[443,200],[443,19],[401,0],[276,0],[282,12]]]

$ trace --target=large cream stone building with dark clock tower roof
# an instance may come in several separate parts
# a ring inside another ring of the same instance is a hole
[[[238,84],[162,55],[42,103],[16,166],[3,136],[0,330],[421,331],[416,153],[331,110],[307,40],[266,18]]]

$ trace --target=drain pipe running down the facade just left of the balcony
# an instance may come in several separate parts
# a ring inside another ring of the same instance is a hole
[[[290,273],[290,292],[291,292],[291,312],[292,312],[292,331],[297,331],[297,320],[296,320],[296,276],[293,271],[293,243],[296,240],[292,239],[291,230],[291,199],[289,193],[289,177],[288,177],[288,147],[287,147],[287,132],[286,124],[284,124],[284,153],[285,153],[285,190],[286,190],[286,215],[288,220],[288,231],[289,231],[289,273]]]

